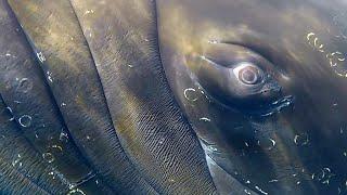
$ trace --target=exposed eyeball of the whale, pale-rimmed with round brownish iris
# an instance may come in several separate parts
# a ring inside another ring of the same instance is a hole
[[[262,81],[264,72],[249,63],[243,63],[233,69],[237,79],[244,84],[257,84]]]

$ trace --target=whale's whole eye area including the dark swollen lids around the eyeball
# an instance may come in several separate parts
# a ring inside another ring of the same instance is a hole
[[[236,46],[211,44],[187,57],[194,79],[213,100],[245,113],[267,113],[282,101],[281,72],[260,54]],[[260,110],[260,112],[259,112]]]

